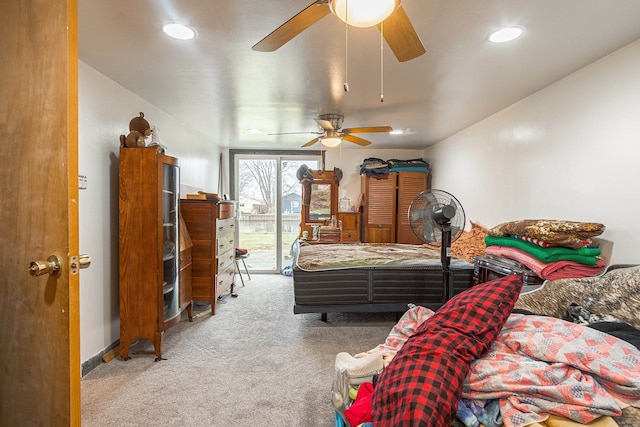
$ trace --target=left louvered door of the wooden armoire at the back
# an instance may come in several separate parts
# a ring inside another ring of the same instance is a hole
[[[364,237],[367,243],[396,241],[396,172],[382,177],[362,176]]]

